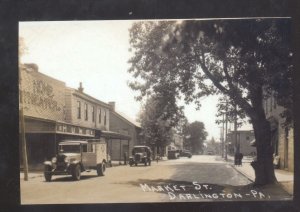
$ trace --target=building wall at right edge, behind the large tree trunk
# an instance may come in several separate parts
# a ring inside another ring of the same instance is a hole
[[[264,111],[271,124],[271,139],[274,155],[279,156],[279,168],[294,171],[294,129],[283,125],[282,106],[274,95],[264,100]]]

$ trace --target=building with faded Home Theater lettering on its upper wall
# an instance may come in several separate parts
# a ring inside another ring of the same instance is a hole
[[[28,163],[36,166],[55,152],[58,123],[65,122],[65,83],[40,73],[35,64],[20,67],[20,81]]]

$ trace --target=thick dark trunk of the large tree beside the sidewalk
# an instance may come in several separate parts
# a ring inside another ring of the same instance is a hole
[[[270,123],[265,117],[259,117],[253,122],[257,161],[251,165],[255,171],[255,185],[277,183],[273,167],[273,148],[271,145]]]

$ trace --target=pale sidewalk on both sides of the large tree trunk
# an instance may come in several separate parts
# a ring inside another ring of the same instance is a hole
[[[243,165],[242,166],[234,166],[234,158],[232,156],[227,156],[228,160],[227,162],[232,165],[238,172],[243,174],[245,177],[247,177],[249,180],[254,181],[255,180],[255,173],[254,169],[251,166],[251,158],[243,158]],[[293,195],[294,192],[294,173],[288,172],[281,169],[275,169],[275,176],[277,178],[277,181],[282,186],[284,190],[286,190],[289,194]]]

